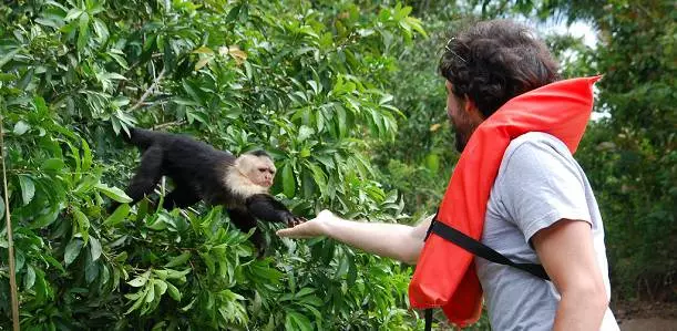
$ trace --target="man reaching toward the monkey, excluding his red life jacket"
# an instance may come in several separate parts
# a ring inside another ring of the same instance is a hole
[[[459,152],[506,102],[558,80],[544,43],[503,20],[480,22],[452,38],[439,68],[447,79],[447,113]],[[417,263],[431,219],[410,227],[345,220],[322,210],[278,235],[329,236]],[[492,329],[618,330],[608,309],[597,204],[585,174],[555,136],[531,132],[510,142],[486,203],[481,241],[511,260],[542,265],[552,280],[475,258]]]

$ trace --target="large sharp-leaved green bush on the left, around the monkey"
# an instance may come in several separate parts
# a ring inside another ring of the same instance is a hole
[[[220,208],[148,210],[122,192],[130,126],[271,152],[296,213],[392,221],[366,151],[402,114],[411,8],[352,1],[29,1],[0,8],[0,111],[23,329],[412,330],[410,272],[331,240],[254,257]],[[171,184],[166,184],[171,185]],[[163,184],[158,192],[164,193]],[[161,195],[162,196],[162,195]],[[112,200],[123,203],[105,213]],[[2,215],[3,220],[4,215]],[[0,329],[9,328],[4,221]]]

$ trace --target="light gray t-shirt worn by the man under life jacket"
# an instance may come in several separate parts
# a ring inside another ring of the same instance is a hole
[[[529,241],[562,218],[592,225],[611,294],[602,217],[583,169],[552,135],[527,133],[513,139],[486,205],[482,242],[515,262],[540,263]],[[475,265],[493,330],[552,330],[560,294],[550,281],[482,258]],[[618,330],[608,309],[601,330]]]

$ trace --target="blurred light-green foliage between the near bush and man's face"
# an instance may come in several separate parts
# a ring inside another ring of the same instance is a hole
[[[373,145],[376,164],[389,187],[402,193],[404,211],[414,221],[434,213],[459,157],[438,61],[463,11],[449,3],[440,6],[444,10],[429,12],[423,20],[429,38],[402,50],[402,64],[391,75],[394,103],[404,114],[398,135],[393,142]]]

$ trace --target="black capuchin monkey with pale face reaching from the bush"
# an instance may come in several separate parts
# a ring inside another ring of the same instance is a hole
[[[235,157],[186,135],[132,128],[125,139],[137,146],[141,165],[125,189],[133,205],[150,195],[162,176],[174,182],[174,190],[164,198],[163,208],[185,208],[199,200],[209,206],[225,206],[230,221],[240,230],[256,227],[256,218],[284,223],[289,227],[306,219],[291,214],[268,189],[275,178],[275,165],[264,151]],[[113,203],[109,213],[120,203]],[[265,242],[260,231],[250,237],[263,256]]]

